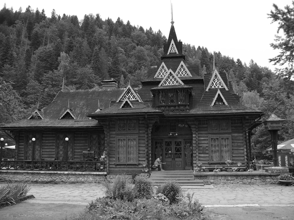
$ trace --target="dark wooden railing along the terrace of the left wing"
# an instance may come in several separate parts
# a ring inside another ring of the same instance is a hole
[[[0,170],[104,172],[105,161],[2,160]]]

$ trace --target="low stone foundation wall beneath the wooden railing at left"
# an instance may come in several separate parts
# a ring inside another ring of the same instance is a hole
[[[107,175],[106,172],[62,172],[62,171],[12,171],[0,170],[0,180],[6,182],[38,182],[38,183],[101,183],[116,179],[118,175]],[[126,175],[132,182],[132,175]]]

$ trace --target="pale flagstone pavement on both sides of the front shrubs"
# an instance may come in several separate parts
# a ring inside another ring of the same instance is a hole
[[[103,197],[102,184],[29,184],[31,203],[67,203],[87,205],[97,197]],[[193,199],[206,207],[211,206],[294,206],[294,186],[282,185],[225,185],[204,187],[183,186],[184,194],[193,193]]]

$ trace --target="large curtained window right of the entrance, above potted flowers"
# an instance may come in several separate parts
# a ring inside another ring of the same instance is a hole
[[[210,136],[208,144],[210,162],[231,160],[231,136]]]

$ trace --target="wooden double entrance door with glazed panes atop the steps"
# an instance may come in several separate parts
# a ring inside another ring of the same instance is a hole
[[[163,141],[163,165],[164,170],[183,170],[183,140],[169,139]]]

